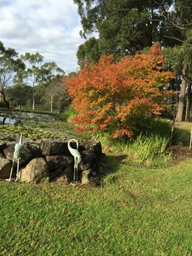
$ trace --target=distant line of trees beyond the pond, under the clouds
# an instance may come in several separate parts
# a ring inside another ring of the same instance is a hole
[[[65,72],[55,62],[44,62],[39,53],[20,55],[0,41],[0,106],[42,105],[52,112],[70,103],[63,83]]]

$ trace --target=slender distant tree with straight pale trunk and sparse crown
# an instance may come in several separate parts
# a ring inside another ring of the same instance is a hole
[[[35,96],[38,92],[39,81],[42,77],[42,72],[40,66],[44,57],[42,57],[39,53],[31,54],[26,53],[25,55],[21,55],[20,58],[24,61],[26,65],[26,69],[19,74],[20,80],[27,83],[29,86],[33,88],[33,111],[35,110]]]

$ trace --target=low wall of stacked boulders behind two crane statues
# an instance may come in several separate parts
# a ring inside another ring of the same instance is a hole
[[[76,148],[76,143],[70,145]],[[9,178],[15,144],[0,144],[0,178]],[[95,182],[99,175],[110,172],[108,165],[101,163],[102,147],[99,141],[89,140],[80,144],[78,151],[78,181],[82,184]],[[14,174],[17,163],[14,164]],[[68,150],[68,141],[41,141],[39,147],[24,143],[19,161],[18,179],[27,183],[57,182],[69,184],[74,176],[74,158]]]

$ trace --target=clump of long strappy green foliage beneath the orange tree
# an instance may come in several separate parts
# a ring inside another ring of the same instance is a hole
[[[112,147],[113,151],[126,154],[132,164],[155,167],[167,164],[172,159],[167,147],[170,143],[182,144],[181,131],[175,127],[171,136],[172,125],[159,118],[148,118],[145,125],[138,123],[132,139],[112,139],[107,133],[97,133],[96,138],[102,145]]]

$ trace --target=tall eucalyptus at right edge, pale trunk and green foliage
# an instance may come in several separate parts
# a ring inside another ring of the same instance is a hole
[[[192,83],[192,2],[189,0],[175,0],[170,11],[164,8],[161,1],[158,2],[160,3],[162,20],[166,21],[170,28],[180,32],[180,36],[167,35],[167,38],[176,40],[181,46],[165,49],[164,53],[170,67],[182,77],[176,120],[183,120],[187,88],[185,121],[189,121]]]

